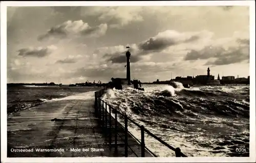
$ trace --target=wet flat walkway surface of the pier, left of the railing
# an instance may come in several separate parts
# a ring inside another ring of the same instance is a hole
[[[115,153],[94,113],[94,92],[86,92],[10,115],[8,157],[124,157],[123,141],[118,140]],[[57,121],[51,121],[54,118]],[[129,142],[139,151],[140,145],[131,136]],[[55,151],[36,151],[39,149]],[[136,157],[129,152],[131,156]]]

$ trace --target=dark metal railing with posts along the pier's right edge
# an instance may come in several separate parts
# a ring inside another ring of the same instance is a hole
[[[109,133],[108,136],[109,136],[110,146],[112,145],[112,134],[114,134],[115,153],[117,152],[117,148],[118,148],[118,144],[117,144],[118,136],[120,138],[122,138],[120,136],[120,134],[118,133],[118,132],[120,132],[120,130],[118,131],[118,128],[119,128],[118,126],[121,126],[121,128],[124,130],[124,139],[122,139],[122,141],[124,142],[125,157],[128,157],[128,148],[132,151],[132,153],[134,153],[137,157],[139,157],[138,154],[129,145],[128,136],[133,137],[139,143],[140,151],[141,151],[141,156],[140,157],[145,157],[145,151],[150,153],[152,156],[157,157],[156,154],[154,154],[150,149],[148,149],[145,146],[145,136],[144,136],[145,133],[147,133],[151,137],[155,138],[157,141],[159,141],[161,144],[163,144],[167,148],[173,150],[175,152],[176,157],[187,157],[185,154],[183,154],[181,152],[180,148],[174,148],[174,147],[170,146],[169,144],[164,142],[162,139],[157,137],[155,134],[148,131],[143,125],[139,125],[138,123],[136,123],[135,121],[133,121],[132,119],[127,117],[126,114],[121,113],[116,108],[113,108],[112,106],[110,106],[109,104],[107,104],[106,102],[101,100],[100,99],[101,96],[104,95],[108,91],[108,89],[109,88],[104,88],[104,89],[101,89],[101,90],[98,90],[98,91],[95,92],[95,112],[96,112],[96,117],[98,117],[102,122],[101,123],[102,127],[104,129],[108,130],[107,132]],[[107,110],[107,108],[109,108],[109,111]],[[114,116],[112,116],[112,113],[114,114]],[[117,115],[119,115],[119,116],[117,116]],[[117,121],[117,117],[124,119],[124,126],[121,125]],[[114,125],[113,125],[113,121],[114,121]],[[134,125],[136,125],[137,127],[140,128],[141,141],[139,141],[136,136],[134,136],[131,132],[128,131],[128,122],[130,122],[130,123],[132,123],[132,124],[134,124]],[[114,132],[112,130],[114,130]]]

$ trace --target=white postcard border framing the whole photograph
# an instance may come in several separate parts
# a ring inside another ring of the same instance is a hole
[[[250,6],[250,157],[45,157],[7,158],[7,6]],[[1,2],[1,162],[255,162],[254,1]]]

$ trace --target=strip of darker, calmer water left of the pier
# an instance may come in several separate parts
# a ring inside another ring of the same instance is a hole
[[[100,87],[15,86],[7,88],[7,113],[27,109],[49,100],[76,95]]]

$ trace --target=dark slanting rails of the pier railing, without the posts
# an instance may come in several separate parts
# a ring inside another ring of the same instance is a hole
[[[110,89],[110,88],[104,88],[104,89],[101,89],[101,90],[96,91],[96,92],[95,92],[95,98],[97,98],[97,99],[95,99],[95,102],[98,101],[98,98],[100,98],[102,95],[104,95],[104,94],[105,94],[105,91],[108,90],[108,89]],[[101,99],[99,99],[99,101],[102,102],[102,106],[103,106],[103,107],[104,107],[104,103],[105,103],[105,106],[108,106],[108,107],[109,107],[109,113],[110,113],[110,110],[113,109],[113,110],[115,110],[115,112],[117,112],[119,115],[121,115],[122,117],[124,117],[127,121],[130,121],[131,123],[133,123],[134,125],[136,125],[136,126],[139,127],[139,128],[142,127],[142,125],[139,125],[139,124],[136,123],[134,120],[132,120],[131,118],[127,117],[126,114],[123,114],[123,113],[121,113],[120,111],[118,111],[116,108],[113,108],[110,104],[106,103],[105,101],[103,101],[103,100],[101,100]],[[105,110],[107,111],[106,108],[105,108]],[[113,111],[113,110],[112,110],[112,111]],[[111,115],[111,113],[110,113],[110,115]],[[111,117],[114,118],[112,115],[111,115]],[[115,119],[115,118],[114,118],[114,119]],[[126,122],[126,123],[127,123],[127,122]],[[125,129],[125,126],[123,126],[122,124],[120,124],[120,125]],[[148,135],[152,136],[153,138],[157,139],[157,141],[159,141],[160,143],[162,143],[164,146],[168,147],[169,149],[173,150],[175,153],[178,152],[178,153],[176,153],[176,156],[179,155],[178,157],[180,157],[180,156],[182,156],[182,157],[187,157],[185,154],[183,154],[183,153],[180,151],[179,148],[176,148],[176,149],[175,149],[174,147],[170,146],[169,144],[167,144],[166,142],[164,142],[161,138],[159,138],[158,136],[156,136],[155,134],[153,134],[152,132],[150,132],[149,130],[147,130],[145,127],[143,127],[143,131],[146,132]],[[127,131],[127,132],[129,132],[129,131]],[[135,140],[136,140],[139,144],[141,144],[141,142],[138,141],[138,138],[136,138],[136,136],[134,136],[131,132],[129,132],[129,133],[135,138]],[[145,147],[145,145],[144,145],[144,148],[146,148],[147,151],[150,152],[152,155],[154,155],[155,157],[157,157],[156,154],[154,154],[154,152],[152,152],[152,151],[149,150],[147,147]]]

